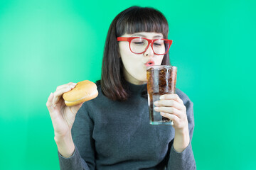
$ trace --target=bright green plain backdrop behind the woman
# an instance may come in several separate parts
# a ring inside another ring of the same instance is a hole
[[[176,86],[194,103],[197,168],[256,169],[256,3],[245,0],[1,0],[0,169],[59,169],[48,96],[100,79],[110,23],[132,5],[169,21]]]

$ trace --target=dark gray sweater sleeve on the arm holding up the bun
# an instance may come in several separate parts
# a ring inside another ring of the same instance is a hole
[[[93,121],[85,109],[85,103],[75,116],[75,122],[71,129],[74,153],[63,157],[58,152],[60,170],[92,170],[95,169],[95,147],[92,140]]]

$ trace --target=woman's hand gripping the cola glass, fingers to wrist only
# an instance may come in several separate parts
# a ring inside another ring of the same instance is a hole
[[[154,102],[155,111],[160,112],[165,118],[174,122],[175,132],[188,132],[188,119],[186,115],[186,106],[177,94],[164,94],[160,101]]]

